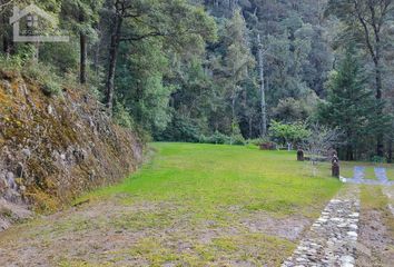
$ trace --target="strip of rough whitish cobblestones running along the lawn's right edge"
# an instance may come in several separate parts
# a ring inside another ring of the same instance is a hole
[[[359,218],[357,186],[343,189],[315,221],[283,267],[355,265]]]

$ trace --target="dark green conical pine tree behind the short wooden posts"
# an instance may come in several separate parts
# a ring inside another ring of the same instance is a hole
[[[344,132],[345,158],[355,159],[355,151],[362,148],[363,139],[373,138],[382,130],[386,118],[381,116],[380,101],[366,88],[354,49],[346,50],[338,70],[328,81],[327,102],[319,106],[319,120]]]

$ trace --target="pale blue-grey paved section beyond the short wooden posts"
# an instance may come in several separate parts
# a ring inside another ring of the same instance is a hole
[[[390,181],[386,176],[385,168],[375,168],[375,176],[377,180],[365,179],[365,167],[354,167],[353,178],[341,177],[341,180],[346,184],[356,185],[376,185],[376,186],[394,186],[394,181]]]

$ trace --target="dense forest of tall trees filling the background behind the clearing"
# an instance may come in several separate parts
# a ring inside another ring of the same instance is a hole
[[[13,42],[13,6],[32,2],[68,42]],[[392,0],[32,2],[0,0],[0,67],[89,90],[146,141],[296,148],[318,125],[341,158],[392,161]]]

